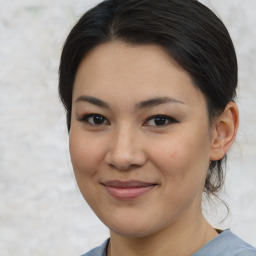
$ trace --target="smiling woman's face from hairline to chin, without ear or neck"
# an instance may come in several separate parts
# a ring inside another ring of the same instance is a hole
[[[71,160],[112,232],[146,236],[201,214],[210,131],[203,94],[160,47],[111,42],[80,64]]]

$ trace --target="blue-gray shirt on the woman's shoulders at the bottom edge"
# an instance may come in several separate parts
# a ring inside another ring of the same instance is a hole
[[[108,242],[109,239],[82,256],[106,256]],[[226,229],[192,256],[256,256],[256,248]]]

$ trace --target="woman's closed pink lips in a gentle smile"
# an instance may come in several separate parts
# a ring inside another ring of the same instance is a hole
[[[125,182],[113,180],[104,182],[103,185],[111,196],[121,200],[140,197],[156,186],[156,184],[153,183],[135,180]]]

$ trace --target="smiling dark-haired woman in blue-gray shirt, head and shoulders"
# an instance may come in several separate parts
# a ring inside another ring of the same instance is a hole
[[[235,140],[235,50],[194,0],[107,0],[61,56],[59,92],[87,203],[110,239],[87,256],[256,255],[204,218]]]

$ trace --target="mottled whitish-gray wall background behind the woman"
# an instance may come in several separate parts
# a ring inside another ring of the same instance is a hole
[[[1,2],[2,1],[2,2]],[[76,186],[57,95],[61,47],[92,0],[0,0],[0,254],[80,255],[108,237]],[[256,246],[256,0],[204,1],[239,60],[241,126],[229,154],[225,209],[206,213]]]

